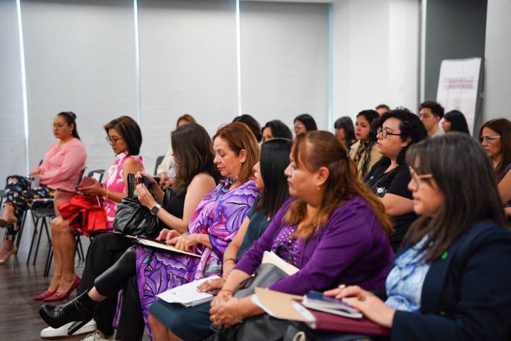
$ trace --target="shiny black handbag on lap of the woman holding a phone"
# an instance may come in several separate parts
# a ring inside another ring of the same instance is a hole
[[[117,204],[114,233],[156,237],[160,233],[160,221],[153,213],[150,213],[149,208],[143,206],[136,199],[133,195],[134,192],[135,176],[128,174],[128,196],[125,196],[122,202]],[[151,191],[150,193],[153,194]]]

